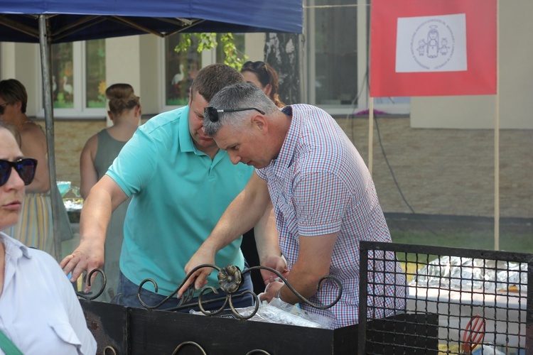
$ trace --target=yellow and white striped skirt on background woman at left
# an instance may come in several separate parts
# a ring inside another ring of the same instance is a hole
[[[26,192],[21,211],[18,223],[4,233],[55,258],[50,192]]]

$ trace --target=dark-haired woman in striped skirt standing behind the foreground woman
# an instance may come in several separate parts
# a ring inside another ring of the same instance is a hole
[[[38,161],[35,178],[26,186],[21,218],[5,232],[27,246],[55,257],[46,136],[41,126],[26,115],[27,104],[28,94],[21,82],[0,80],[0,120],[15,127],[24,156]]]

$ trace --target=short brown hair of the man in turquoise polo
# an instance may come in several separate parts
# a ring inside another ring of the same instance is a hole
[[[235,68],[225,64],[212,64],[198,72],[190,86],[190,92],[198,92],[205,101],[210,102],[222,88],[239,82],[244,82],[244,78]]]

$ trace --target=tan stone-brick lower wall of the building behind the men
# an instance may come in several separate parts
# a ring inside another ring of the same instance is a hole
[[[368,162],[368,120],[338,119]],[[80,152],[105,121],[56,121],[58,180],[80,185]],[[379,134],[378,134],[379,128]],[[384,152],[399,187],[395,185]],[[409,119],[377,119],[373,177],[384,212],[492,217],[494,133],[490,129],[412,129]],[[533,130],[500,131],[500,216],[533,218]]]

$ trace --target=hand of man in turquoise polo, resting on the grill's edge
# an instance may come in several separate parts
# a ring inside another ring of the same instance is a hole
[[[70,277],[71,283],[75,283],[82,273],[85,272],[85,277],[87,277],[93,269],[101,268],[103,265],[104,246],[89,240],[82,241],[80,246],[72,254],[66,256],[59,263],[59,266],[65,271],[65,275],[68,275],[72,271],[72,276]],[[95,277],[96,273],[92,275],[91,285]],[[88,280],[85,279],[84,281],[86,285],[83,292],[87,293],[90,290],[90,286],[87,283]]]

